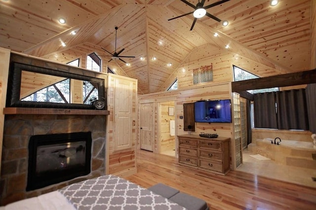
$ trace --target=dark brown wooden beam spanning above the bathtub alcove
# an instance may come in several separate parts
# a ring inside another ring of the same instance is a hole
[[[232,82],[232,92],[316,83],[316,69]]]

